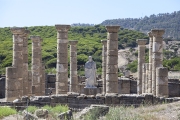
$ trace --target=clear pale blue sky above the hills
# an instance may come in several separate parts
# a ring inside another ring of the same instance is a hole
[[[180,0],[0,0],[0,27],[99,24],[180,10]]]

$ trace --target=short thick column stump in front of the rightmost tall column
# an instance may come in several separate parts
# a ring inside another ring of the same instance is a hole
[[[156,68],[156,96],[168,97],[168,69],[166,67]]]

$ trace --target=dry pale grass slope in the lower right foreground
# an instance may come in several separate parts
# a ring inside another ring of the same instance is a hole
[[[111,107],[103,120],[180,120],[180,102],[134,107]]]

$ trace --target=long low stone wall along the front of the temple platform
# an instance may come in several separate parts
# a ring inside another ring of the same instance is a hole
[[[91,104],[104,104],[108,106],[131,106],[134,105],[138,107],[140,105],[151,105],[164,102],[178,101],[179,99],[173,98],[158,98],[153,95],[112,95],[112,96],[102,96],[102,95],[52,95],[52,96],[34,96],[31,98],[29,105],[32,106],[44,106],[56,104],[68,105],[70,108],[83,109],[90,106]],[[19,106],[24,107],[27,105],[25,99],[18,103],[1,102],[0,106]]]

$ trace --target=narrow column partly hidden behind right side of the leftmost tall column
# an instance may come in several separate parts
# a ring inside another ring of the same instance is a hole
[[[30,34],[29,30],[25,30],[23,39],[23,95],[30,94],[29,87],[31,87],[28,83],[28,34]]]

